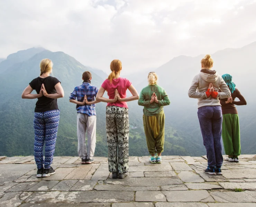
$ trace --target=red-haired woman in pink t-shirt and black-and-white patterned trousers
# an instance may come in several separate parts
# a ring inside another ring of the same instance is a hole
[[[139,99],[139,94],[126,78],[120,77],[122,62],[113,60],[110,63],[111,73],[96,96],[97,101],[107,102],[106,130],[108,141],[108,167],[112,178],[127,176],[129,161],[129,115],[127,101]],[[126,90],[132,94],[126,97]],[[109,98],[104,98],[104,92]],[[118,152],[118,155],[117,155]]]

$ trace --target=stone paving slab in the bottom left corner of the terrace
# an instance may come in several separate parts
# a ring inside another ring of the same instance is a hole
[[[21,204],[21,200],[19,199],[21,192],[14,193],[6,193],[0,198],[0,206],[1,207],[17,207]]]

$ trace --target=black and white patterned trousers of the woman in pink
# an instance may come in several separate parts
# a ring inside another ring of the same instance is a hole
[[[106,110],[108,167],[110,172],[125,173],[129,167],[128,108],[108,106]]]

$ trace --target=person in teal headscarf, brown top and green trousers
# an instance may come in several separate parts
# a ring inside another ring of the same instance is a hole
[[[241,95],[240,91],[235,88],[235,83],[232,82],[232,76],[229,74],[222,75],[223,80],[227,83],[231,92],[231,97],[220,99],[222,108],[222,140],[227,161],[239,162],[238,156],[241,154],[240,146],[240,128],[239,117],[235,105],[246,105],[245,98]],[[239,101],[235,101],[238,98]]]

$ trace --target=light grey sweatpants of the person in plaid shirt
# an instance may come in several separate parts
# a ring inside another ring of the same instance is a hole
[[[87,130],[87,148],[85,133]],[[96,116],[77,113],[77,139],[78,155],[82,158],[92,159],[96,146]]]

